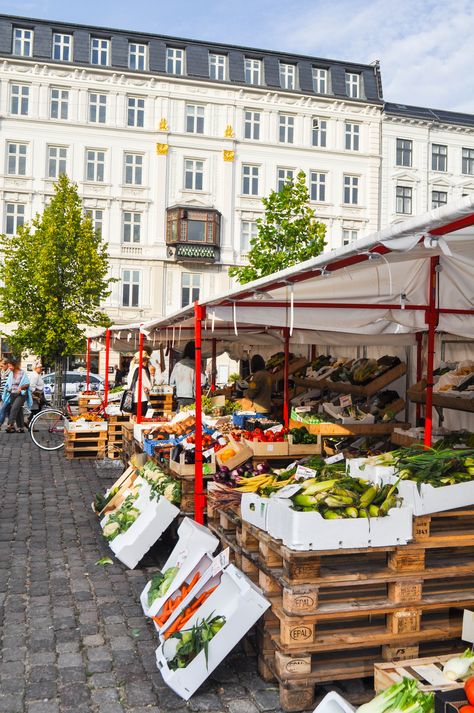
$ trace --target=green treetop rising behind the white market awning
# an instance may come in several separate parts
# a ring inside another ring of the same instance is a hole
[[[316,257],[326,244],[326,226],[316,220],[309,205],[304,171],[262,203],[265,216],[257,220],[258,235],[250,241],[248,264],[229,269],[241,284]]]

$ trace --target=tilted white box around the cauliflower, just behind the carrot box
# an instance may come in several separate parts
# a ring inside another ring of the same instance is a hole
[[[179,566],[179,572],[172,581],[170,588],[163,597],[156,599],[151,607],[148,606],[148,590],[150,582],[140,595],[140,601],[145,616],[156,616],[164,603],[174,592],[181,587],[185,580],[191,581],[190,573],[194,575],[197,565],[199,565],[203,555],[213,553],[219,544],[207,527],[200,525],[189,517],[184,518],[178,528],[178,542],[173,548],[170,556],[163,565],[162,572],[166,572],[170,567]]]

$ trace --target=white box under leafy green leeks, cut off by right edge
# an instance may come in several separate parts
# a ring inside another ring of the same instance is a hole
[[[386,483],[396,483],[397,480],[396,475],[385,478]],[[474,505],[474,480],[440,488],[433,488],[426,483],[418,486],[413,480],[400,480],[397,488],[403,504],[409,505],[414,515],[429,515],[432,512]]]

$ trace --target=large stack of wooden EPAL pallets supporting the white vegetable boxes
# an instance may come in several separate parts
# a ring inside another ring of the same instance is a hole
[[[272,601],[259,671],[285,711],[312,708],[318,684],[372,676],[377,661],[459,650],[474,606],[472,507],[417,517],[410,544],[373,549],[296,552],[219,509],[210,527]]]

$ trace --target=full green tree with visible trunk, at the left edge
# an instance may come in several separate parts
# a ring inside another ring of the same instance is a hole
[[[77,186],[62,175],[42,215],[0,238],[0,313],[15,322],[14,352],[55,362],[56,401],[64,357],[84,351],[80,325],[107,326],[100,302],[109,294],[105,244],[84,215]]]

